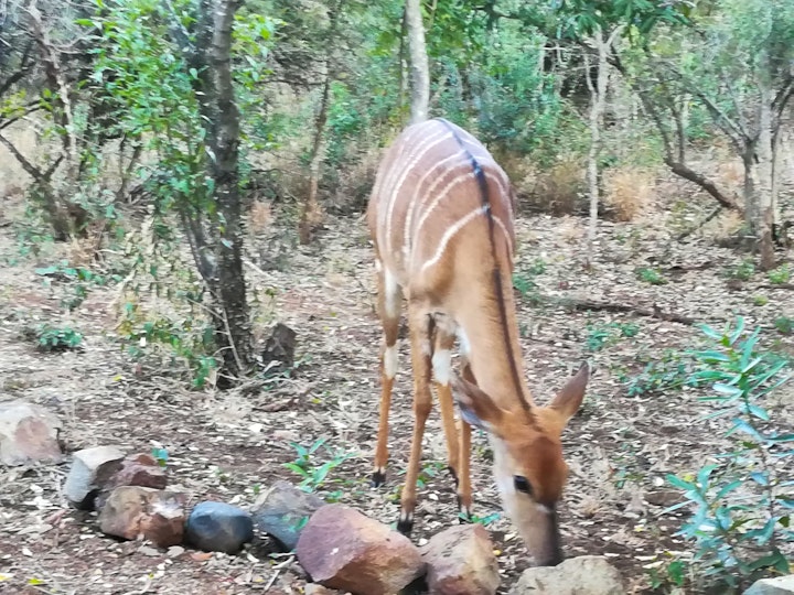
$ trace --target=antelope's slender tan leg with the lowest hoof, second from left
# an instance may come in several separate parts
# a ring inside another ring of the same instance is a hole
[[[414,529],[414,509],[416,508],[416,488],[421,462],[421,441],[425,423],[432,409],[430,349],[432,317],[408,304],[408,325],[411,336],[411,363],[414,364],[414,436],[411,437],[410,459],[403,486],[401,510],[397,530],[408,536]]]

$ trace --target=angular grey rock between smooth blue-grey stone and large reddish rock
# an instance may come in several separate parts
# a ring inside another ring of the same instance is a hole
[[[289,482],[276,482],[254,504],[254,526],[273,537],[285,550],[294,550],[302,527],[325,502]]]

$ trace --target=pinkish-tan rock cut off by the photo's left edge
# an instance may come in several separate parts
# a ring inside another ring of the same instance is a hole
[[[61,420],[46,409],[25,402],[0,403],[0,463],[60,463]]]

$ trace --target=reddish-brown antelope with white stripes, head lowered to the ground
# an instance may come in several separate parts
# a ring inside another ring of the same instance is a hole
[[[397,371],[400,305],[408,302],[414,436],[398,529],[414,524],[416,484],[434,376],[448,463],[461,512],[471,515],[471,426],[489,433],[507,516],[536,563],[561,561],[556,504],[568,467],[561,432],[584,397],[582,366],[548,407],[524,379],[513,301],[515,195],[504,171],[470,133],[443,119],[407,128],[378,169],[367,209],[383,324],[380,423],[373,484],[385,480],[388,414]],[[455,337],[462,378],[451,372]],[[454,422],[452,390],[465,423]]]

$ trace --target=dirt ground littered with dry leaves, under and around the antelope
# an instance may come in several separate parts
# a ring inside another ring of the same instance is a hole
[[[655,305],[718,327],[741,314],[749,326],[766,328],[768,347],[790,351],[794,342],[777,334],[773,321],[794,316],[791,289],[769,286],[762,273],[730,282],[726,271],[743,256],[702,239],[675,241],[669,217],[662,213],[652,221],[603,223],[594,271],[584,273],[576,264],[582,219],[524,216],[519,274],[546,296]],[[168,367],[139,367],[114,334],[114,286],[93,289],[78,310],[64,313],[64,284],[49,286],[34,269],[53,264],[67,251],[58,246],[39,257],[20,257],[14,226],[0,228],[0,399],[28,399],[56,412],[64,421],[67,452],[99,444],[130,452],[164,448],[172,488],[187,493],[192,502],[221,499],[249,506],[273,480],[298,479],[282,467],[296,457],[290,442],[310,446],[325,437],[331,450],[354,456],[331,472],[321,494],[384,522],[396,521],[411,430],[407,346],[401,342],[388,483],[373,490],[379,328],[373,314],[372,250],[360,219],[329,220],[314,245],[285,252],[280,270],[266,271],[251,257],[246,269],[250,284],[275,295],[268,313],[256,313],[258,320],[294,328],[300,361],[293,378],[255,392],[189,390]],[[543,272],[534,267],[538,260],[545,263]],[[639,267],[658,270],[668,282],[639,280]],[[768,300],[765,305],[757,305],[759,295]],[[526,299],[518,303],[526,375],[536,400],[545,402],[583,359],[597,368],[586,404],[564,435],[571,467],[560,509],[566,554],[607,555],[630,593],[648,593],[645,566],[664,560],[665,552],[688,550],[674,536],[684,512],[662,515],[678,501],[664,477],[698,468],[719,452],[721,425],[702,421],[709,410],[697,400],[702,392],[630,396],[624,376],[639,374],[666,350],[696,346],[701,333],[653,317],[571,312]],[[84,333],[84,349],[37,353],[23,332],[45,321],[67,322]],[[614,336],[615,324],[636,325],[636,334],[619,334],[593,350],[599,332]],[[780,399],[791,403],[792,389],[784,388]],[[792,411],[776,413],[790,429]],[[320,448],[313,461],[320,465],[332,456]],[[476,436],[474,457],[475,513],[500,513],[483,435]],[[419,543],[457,522],[444,467],[436,412],[426,435],[426,483],[412,536]],[[164,552],[103,536],[94,515],[66,507],[61,488],[67,469],[67,462],[0,468],[0,592],[302,593],[305,578],[294,559],[271,554],[266,539],[239,555],[210,555]],[[526,555],[504,518],[487,527],[503,572],[500,593],[507,593],[526,567]]]

